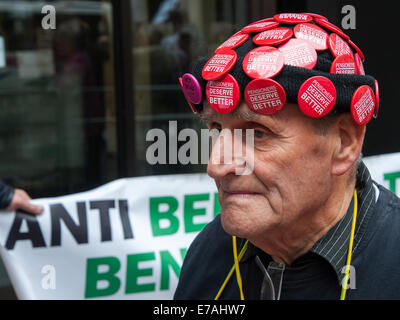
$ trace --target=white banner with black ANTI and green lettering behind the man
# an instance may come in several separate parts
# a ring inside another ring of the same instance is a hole
[[[400,194],[400,153],[365,158]],[[0,253],[19,299],[171,299],[183,257],[219,213],[206,174],[122,179],[0,213]]]

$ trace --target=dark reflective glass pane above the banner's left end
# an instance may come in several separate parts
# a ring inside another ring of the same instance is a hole
[[[0,177],[33,197],[116,178],[112,6],[0,2]],[[4,57],[4,59],[2,59]]]

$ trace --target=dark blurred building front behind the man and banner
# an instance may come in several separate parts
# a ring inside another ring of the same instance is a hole
[[[56,29],[42,28],[42,7]],[[396,10],[390,2],[317,0],[0,0],[0,178],[33,198],[88,190],[122,177],[204,172],[151,166],[146,133],[201,124],[178,76],[250,22],[278,12],[314,12],[341,26],[380,84],[379,121],[365,156],[400,152]],[[397,92],[397,93],[396,93]],[[0,262],[0,299],[15,299]]]

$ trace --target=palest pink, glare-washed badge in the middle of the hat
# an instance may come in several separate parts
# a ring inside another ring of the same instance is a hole
[[[317,64],[317,52],[305,40],[290,39],[279,47],[285,57],[285,64],[312,69]]]

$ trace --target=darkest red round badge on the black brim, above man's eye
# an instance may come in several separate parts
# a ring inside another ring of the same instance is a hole
[[[271,79],[255,79],[244,90],[247,105],[261,114],[279,112],[286,102],[286,93],[283,87]]]

